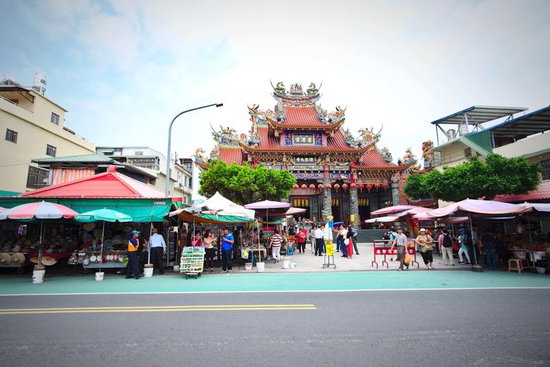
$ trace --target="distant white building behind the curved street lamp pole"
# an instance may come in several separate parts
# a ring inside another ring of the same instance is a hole
[[[164,190],[166,188],[166,157],[164,154],[148,146],[98,146],[96,152],[109,157],[126,166],[140,168],[155,179],[150,183]],[[182,197],[184,203],[191,202],[192,169],[191,159],[178,159],[170,162],[169,194]]]

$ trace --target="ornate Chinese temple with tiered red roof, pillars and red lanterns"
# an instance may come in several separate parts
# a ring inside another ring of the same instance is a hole
[[[346,109],[328,112],[318,103],[314,83],[307,90],[298,84],[289,90],[283,82],[273,87],[274,109],[248,107],[252,129],[237,135],[221,127],[212,136],[217,142],[207,159],[201,148],[195,161],[208,169],[211,159],[228,164],[263,164],[273,170],[288,170],[297,180],[288,199],[307,211],[312,221],[326,220],[364,226],[373,210],[406,203],[401,189],[407,172],[416,164],[410,151],[392,163],[387,148],[376,146],[380,131],[360,129],[353,136],[344,129]]]

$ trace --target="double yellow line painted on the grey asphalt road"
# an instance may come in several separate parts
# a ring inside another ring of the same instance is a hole
[[[50,313],[128,313],[128,312],[172,312],[172,311],[298,311],[316,310],[317,307],[219,307],[197,309],[192,307],[176,309],[101,309],[101,310],[65,310],[65,311],[0,311],[0,315],[28,315]]]

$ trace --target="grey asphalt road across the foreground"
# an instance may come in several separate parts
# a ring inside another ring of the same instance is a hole
[[[281,304],[306,306],[226,310]],[[549,304],[547,289],[8,296],[0,364],[550,366]],[[36,310],[80,307],[106,309]]]

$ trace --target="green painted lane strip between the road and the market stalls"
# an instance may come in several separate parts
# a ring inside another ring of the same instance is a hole
[[[331,273],[207,274],[198,279],[180,275],[140,280],[106,276],[51,277],[33,284],[29,278],[0,279],[0,295],[63,293],[170,293],[251,291],[353,291],[386,289],[547,288],[550,276],[472,271],[342,271]]]

